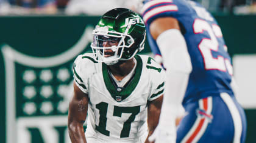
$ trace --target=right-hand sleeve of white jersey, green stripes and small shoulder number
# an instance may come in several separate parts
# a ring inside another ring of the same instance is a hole
[[[151,64],[148,65],[148,67],[150,68],[152,78],[151,94],[148,97],[148,101],[153,101],[162,96],[165,91],[165,70],[163,70],[161,65],[155,62],[154,59],[151,60]]]

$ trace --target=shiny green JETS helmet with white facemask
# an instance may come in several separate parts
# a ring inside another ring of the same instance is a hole
[[[94,59],[107,65],[132,59],[144,48],[146,28],[140,15],[126,8],[105,13],[93,30]]]

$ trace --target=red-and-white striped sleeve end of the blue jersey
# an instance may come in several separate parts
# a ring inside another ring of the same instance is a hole
[[[173,0],[155,0],[146,2],[141,9],[143,21],[150,24],[154,19],[175,15],[179,8]]]

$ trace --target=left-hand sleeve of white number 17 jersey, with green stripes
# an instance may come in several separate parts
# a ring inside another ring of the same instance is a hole
[[[77,56],[73,65],[73,77],[77,87],[84,93],[88,93],[87,78],[85,77],[85,63],[82,59],[82,55]]]

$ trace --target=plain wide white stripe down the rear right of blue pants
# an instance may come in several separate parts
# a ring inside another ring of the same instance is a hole
[[[239,114],[239,111],[236,108],[236,105],[234,104],[230,95],[228,95],[227,93],[221,93],[221,98],[226,103],[227,107],[230,110],[231,116],[233,118],[233,123],[234,123],[234,128],[235,128],[233,143],[239,143],[241,140],[241,134],[242,134],[242,130],[243,130],[241,116]]]

